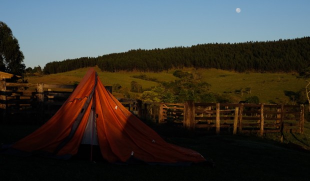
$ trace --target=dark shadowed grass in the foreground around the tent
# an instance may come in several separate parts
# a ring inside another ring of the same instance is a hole
[[[0,125],[0,142],[18,140],[35,128]],[[310,152],[288,144],[245,135],[163,136],[216,166],[119,165],[0,154],[0,180],[309,180]]]

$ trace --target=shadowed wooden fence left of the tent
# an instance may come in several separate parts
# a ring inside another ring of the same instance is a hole
[[[44,122],[60,108],[75,87],[0,80],[0,122]],[[112,92],[111,86],[105,87]]]

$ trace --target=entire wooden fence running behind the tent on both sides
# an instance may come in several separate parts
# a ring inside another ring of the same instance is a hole
[[[74,85],[0,81],[1,121],[44,122],[63,104]],[[111,87],[107,87],[111,91]],[[133,114],[159,123],[184,126],[191,132],[303,133],[303,105],[245,103],[158,103],[119,99]]]

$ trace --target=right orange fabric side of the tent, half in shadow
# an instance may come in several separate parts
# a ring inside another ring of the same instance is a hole
[[[98,82],[97,91],[102,106],[105,137],[119,161],[125,162],[131,156],[145,162],[201,162],[205,160],[196,151],[164,141],[153,129],[131,114],[102,87],[104,86]]]

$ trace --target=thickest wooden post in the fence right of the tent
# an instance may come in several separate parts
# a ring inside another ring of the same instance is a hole
[[[184,122],[185,129],[193,133],[195,129],[194,102],[192,100],[184,102]]]

